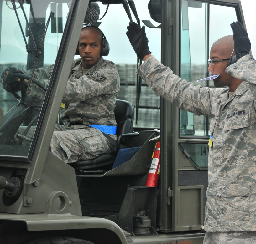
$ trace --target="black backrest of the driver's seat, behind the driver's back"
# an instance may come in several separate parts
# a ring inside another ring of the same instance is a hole
[[[120,134],[131,133],[133,129],[134,106],[125,100],[116,100],[114,109],[117,121],[117,136]],[[126,144],[126,138],[121,139],[121,144]]]

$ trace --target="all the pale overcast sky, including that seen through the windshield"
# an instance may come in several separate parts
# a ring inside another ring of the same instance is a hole
[[[139,18],[141,20],[150,20],[155,26],[159,25],[159,23],[154,22],[149,16],[149,11],[147,11],[148,0],[134,1],[134,2],[137,5],[136,8],[138,11]],[[243,8],[243,15],[245,18],[246,28],[247,28],[248,35],[249,35],[249,38],[252,43],[252,52],[253,52],[254,56],[256,57],[256,31],[255,31],[255,28],[256,28],[256,18],[255,18],[256,0],[241,0],[241,3],[242,3],[242,8]],[[140,6],[139,4],[142,4],[143,7]],[[63,5],[63,6],[67,8],[66,5]],[[16,60],[17,54],[19,57],[24,56],[24,60],[20,60],[20,62],[26,62],[27,58],[26,58],[26,52],[25,52],[25,48],[24,48],[24,41],[23,41],[21,32],[19,30],[19,27],[18,27],[16,16],[12,10],[10,10],[9,8],[6,7],[5,4],[3,5],[3,8],[4,8],[5,12],[8,11],[8,14],[6,16],[12,15],[13,18],[11,18],[11,20],[10,19],[3,20],[3,23],[8,21],[8,25],[2,26],[2,32],[8,33],[8,35],[3,34],[2,38],[1,38],[1,42],[8,43],[9,46],[6,45],[5,48],[2,48],[1,57],[3,57],[3,58],[0,58],[0,63],[1,62],[9,62],[9,63],[13,62],[13,60]],[[213,37],[210,40],[210,46],[212,45],[213,41],[217,40],[218,38],[220,38],[224,35],[232,34],[232,30],[230,28],[230,23],[232,23],[232,21],[235,20],[235,18],[232,16],[231,13],[228,13],[227,11],[223,11],[223,9],[221,10],[220,8],[215,8],[214,5],[212,5],[212,8],[213,8],[213,11],[211,11],[211,12],[213,12],[212,17],[214,19],[214,21],[213,21],[214,26],[211,26],[210,30],[211,30],[211,33],[214,33],[214,34],[211,35]],[[222,7],[222,8],[224,8],[224,10],[225,10],[225,7]],[[20,10],[20,9],[18,9],[18,10]],[[106,10],[106,5],[101,6],[101,14],[100,14],[101,17],[104,14],[105,10]],[[27,9],[27,11],[29,11],[29,9]],[[49,11],[50,11],[50,8],[49,8]],[[193,8],[193,9],[189,8],[189,11],[198,11],[198,14],[191,15],[191,18],[193,16],[195,17],[195,19],[191,23],[198,23],[198,24],[196,24],[196,25],[191,24],[191,26],[190,26],[190,33],[191,34],[193,33],[193,28],[196,29],[194,31],[194,33],[196,35],[198,35],[198,38],[196,38],[196,44],[193,43],[193,38],[191,38],[190,45],[191,45],[191,52],[194,51],[194,52],[200,53],[200,51],[198,51],[197,49],[202,48],[204,43],[199,43],[199,42],[204,42],[204,39],[205,39],[204,36],[202,38],[199,38],[200,33],[205,34],[205,27],[203,24],[204,23],[204,15],[202,15],[201,13],[202,13],[202,11],[203,12],[205,12],[205,11],[202,8],[201,9],[200,8]],[[118,21],[117,21],[117,16],[116,16],[117,14],[119,16]],[[21,14],[21,16],[22,16],[22,14]],[[63,16],[66,16],[66,12],[63,14]],[[133,21],[134,20],[135,19],[133,17]],[[11,21],[13,21],[13,23],[11,23]],[[109,28],[109,23],[114,23],[115,28]],[[137,62],[136,55],[134,55],[133,48],[130,45],[129,40],[125,34],[127,31],[126,26],[128,25],[128,23],[129,23],[129,19],[128,19],[127,14],[125,13],[122,5],[121,4],[112,4],[109,7],[106,16],[102,20],[102,24],[100,25],[100,28],[105,33],[105,36],[107,37],[107,40],[109,41],[110,46],[111,46],[111,48],[110,48],[111,51],[110,51],[107,59],[112,60],[116,64],[120,64],[120,63],[134,64]],[[16,28],[9,31],[9,25],[13,25],[13,24],[16,25]],[[23,23],[23,26],[25,26],[24,23]],[[200,28],[202,29],[201,32],[199,31]],[[116,33],[117,30],[118,30],[118,35]],[[115,33],[113,33],[113,31]],[[160,48],[161,48],[161,46],[159,45],[160,29],[152,29],[152,28],[146,27],[146,33],[147,33],[147,37],[149,38],[150,51],[152,51],[152,53],[158,59],[160,59]],[[52,34],[50,32],[50,27],[49,27],[47,35],[46,35],[46,40],[45,40],[45,53],[51,53],[51,55],[50,55],[50,57],[48,57],[49,55],[48,56],[46,55],[47,57],[44,58],[45,63],[47,63],[47,64],[51,64],[54,62],[54,59],[55,59],[54,54],[57,53],[57,48],[55,45],[56,43],[55,42],[51,43],[51,40],[56,41],[56,38],[55,37],[50,38],[51,35],[56,35],[56,34],[54,34],[54,33]],[[49,38],[48,38],[48,36],[49,36]],[[118,36],[118,38],[117,38],[117,36]],[[8,38],[8,40],[6,41],[5,38]],[[60,39],[61,38],[59,38],[58,40],[60,41]],[[16,41],[16,40],[18,40],[18,41]],[[16,42],[12,43],[14,41],[16,41]],[[115,48],[112,48],[112,47],[115,47]],[[8,55],[8,53],[12,52],[14,50],[14,48],[15,48],[16,55]],[[203,49],[203,51],[204,51],[204,49]],[[122,55],[120,55],[120,53],[122,53]],[[197,55],[194,55],[194,56],[197,56]],[[17,62],[17,60],[15,62]]]

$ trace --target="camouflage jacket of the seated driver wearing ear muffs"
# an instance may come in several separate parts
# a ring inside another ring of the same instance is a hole
[[[52,69],[53,65],[36,69],[34,78],[48,85]],[[30,75],[29,71],[23,72]],[[74,60],[60,108],[61,119],[72,124],[116,125],[114,108],[119,85],[120,78],[113,62],[101,57],[83,74],[81,58]],[[35,102],[42,101],[45,95],[35,84],[31,84],[30,94]]]

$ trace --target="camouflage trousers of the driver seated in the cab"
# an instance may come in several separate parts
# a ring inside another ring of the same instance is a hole
[[[20,127],[18,133],[22,133],[25,128]],[[34,130],[35,126],[31,127],[26,136],[33,137]],[[112,137],[116,139],[115,135]],[[114,152],[113,145],[100,130],[91,127],[74,129],[74,126],[59,124],[55,125],[50,147],[51,152],[66,163],[93,159],[101,154]]]

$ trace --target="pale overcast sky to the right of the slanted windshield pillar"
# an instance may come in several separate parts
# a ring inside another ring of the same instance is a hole
[[[145,9],[146,5],[143,3],[145,1],[134,1],[137,11],[138,11],[138,16],[141,20],[150,20],[155,26],[159,25],[158,23],[154,22],[150,16],[149,16],[149,11]],[[146,1],[148,3],[148,1]],[[248,31],[249,38],[252,43],[252,52],[254,56],[256,57],[256,31],[255,31],[255,26],[256,26],[256,19],[255,19],[255,9],[256,9],[256,0],[241,0],[242,3],[242,8],[243,8],[243,15],[245,18],[245,23],[246,23],[246,28]],[[142,4],[140,6],[139,4]],[[107,37],[110,46],[115,47],[115,49],[110,48],[111,51],[109,53],[109,56],[107,57],[108,59],[112,60],[116,64],[119,63],[134,63],[134,52],[133,49],[128,41],[128,38],[126,37],[126,26],[128,25],[129,19],[127,17],[127,14],[125,13],[124,9],[120,8],[120,4],[114,4],[109,7],[108,13],[104,17],[104,21],[102,20],[102,24],[100,25],[100,28],[102,28],[103,32],[105,33],[105,36]],[[210,38],[210,46],[214,41],[216,41],[218,38],[221,38],[225,35],[231,35],[232,34],[232,29],[230,28],[230,23],[232,21],[235,21],[235,11],[232,10],[231,8],[227,7],[217,7],[216,5],[211,5],[211,18],[214,19],[212,21],[212,25],[210,26],[210,31],[211,31],[211,38]],[[147,8],[147,7],[146,7]],[[105,12],[106,6],[100,6],[101,9],[101,14]],[[227,10],[230,9],[231,12],[228,12]],[[202,49],[202,46],[204,45],[204,35],[205,35],[205,26],[204,26],[204,18],[205,16],[202,14],[205,11],[203,8],[189,8],[189,11],[194,11],[190,15],[190,18],[192,20],[193,16],[195,19],[191,21],[191,24],[189,26],[190,28],[190,33],[191,35],[197,34],[198,38],[196,38],[196,44],[193,43],[195,41],[195,38],[190,39],[190,45],[191,45],[191,52],[197,52],[200,53],[200,50]],[[198,12],[198,13],[197,13]],[[217,13],[216,13],[217,12]],[[119,14],[119,21],[116,21],[116,14]],[[234,16],[233,16],[234,15]],[[132,14],[133,16],[133,14]],[[134,21],[134,17],[133,17]],[[109,23],[115,23],[116,29],[118,29],[119,38],[116,38],[116,34],[112,34],[112,29],[109,28]],[[195,23],[198,23],[195,25]],[[143,25],[143,23],[142,23]],[[194,31],[196,29],[196,32]],[[202,29],[201,31],[199,29]],[[158,58],[160,59],[160,29],[151,29],[146,27],[146,34],[149,39],[149,48],[150,51]],[[203,35],[203,37],[200,38],[200,34]],[[195,45],[194,45],[195,44]],[[125,47],[125,48],[123,48]],[[120,50],[122,50],[123,55],[120,55]],[[204,51],[204,49],[203,49]],[[191,56],[193,53],[191,53]],[[195,56],[195,55],[194,55]],[[196,55],[198,56],[198,55]],[[125,59],[123,58],[125,57]],[[191,60],[194,63],[198,60]]]

